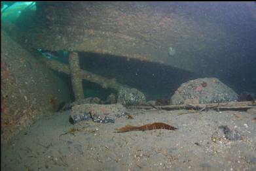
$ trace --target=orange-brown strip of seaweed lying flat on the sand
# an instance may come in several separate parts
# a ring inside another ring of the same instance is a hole
[[[132,125],[126,125],[125,127],[115,129],[117,132],[128,132],[128,131],[147,131],[153,129],[168,129],[168,130],[175,130],[177,128],[172,127],[171,125],[167,125],[166,123],[151,123],[147,125],[143,125],[141,127],[136,127]]]

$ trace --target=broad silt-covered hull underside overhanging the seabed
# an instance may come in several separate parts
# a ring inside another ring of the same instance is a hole
[[[220,25],[183,14],[189,7],[196,5],[37,3],[36,12],[23,12],[18,27],[24,33],[22,42],[31,43],[33,48],[118,55],[201,73],[213,57],[221,57],[223,46],[232,40]],[[171,56],[170,47],[175,50]]]

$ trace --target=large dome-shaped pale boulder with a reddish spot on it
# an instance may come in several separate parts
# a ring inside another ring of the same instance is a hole
[[[171,104],[198,104],[237,101],[230,87],[217,78],[198,78],[181,84],[171,97]]]

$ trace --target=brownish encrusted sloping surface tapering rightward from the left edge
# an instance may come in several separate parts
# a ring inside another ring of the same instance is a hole
[[[60,78],[1,31],[1,143],[69,102],[69,94]]]

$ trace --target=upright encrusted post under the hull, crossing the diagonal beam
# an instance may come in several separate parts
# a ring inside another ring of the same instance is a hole
[[[84,91],[82,89],[82,78],[80,76],[79,55],[77,52],[70,52],[69,54],[69,69],[71,72],[71,82],[73,92],[75,94],[75,101],[84,99]]]

